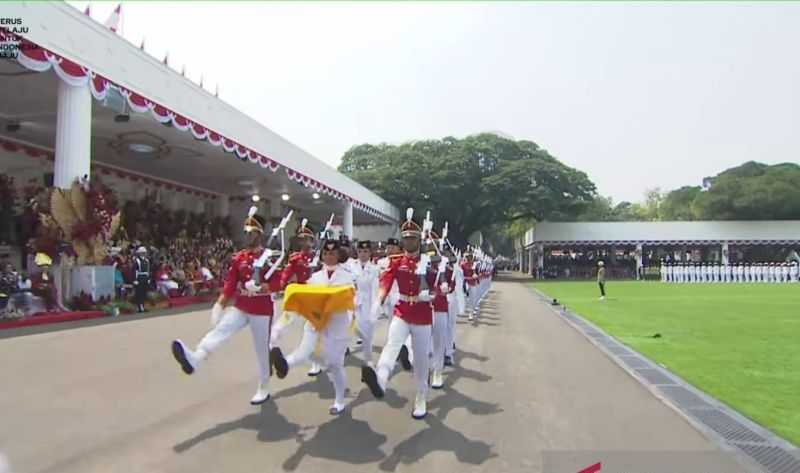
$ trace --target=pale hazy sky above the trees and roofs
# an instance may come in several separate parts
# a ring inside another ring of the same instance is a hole
[[[619,201],[800,161],[800,3],[133,2],[123,19],[334,166],[354,144],[500,131]]]

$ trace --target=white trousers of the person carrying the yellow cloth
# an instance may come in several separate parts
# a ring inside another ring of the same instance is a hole
[[[289,367],[294,367],[307,363],[314,353],[317,341],[322,335],[322,363],[328,369],[328,377],[333,382],[333,390],[336,393],[336,404],[344,403],[344,391],[347,387],[347,379],[344,371],[344,353],[350,341],[350,313],[339,312],[334,314],[328,325],[317,332],[309,322],[303,327],[303,338],[300,345],[286,357]]]

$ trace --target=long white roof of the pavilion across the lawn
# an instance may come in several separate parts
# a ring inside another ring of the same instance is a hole
[[[799,244],[800,220],[542,222],[532,244]]]

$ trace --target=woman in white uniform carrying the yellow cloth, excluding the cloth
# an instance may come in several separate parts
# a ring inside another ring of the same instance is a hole
[[[321,270],[315,272],[306,282],[322,286],[352,286],[353,275],[340,264],[341,247],[336,240],[327,240],[322,245]],[[329,412],[338,415],[344,411],[344,395],[347,388],[347,378],[344,370],[344,356],[350,339],[351,316],[349,310],[334,313],[327,325],[317,331],[310,322],[303,328],[303,338],[297,348],[284,358],[280,348],[275,347],[270,352],[272,366],[279,379],[283,379],[289,370],[295,366],[308,362],[317,346],[319,337],[322,336],[322,362],[328,371],[328,376],[333,382],[335,398]]]

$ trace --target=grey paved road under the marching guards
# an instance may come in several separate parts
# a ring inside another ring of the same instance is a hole
[[[252,407],[247,331],[191,377],[172,360],[173,337],[207,327],[199,311],[0,340],[12,471],[537,472],[547,450],[715,449],[516,281],[495,283],[477,325],[459,322],[458,366],[421,422],[409,374],[376,401],[352,357],[345,415],[328,414],[332,386],[305,370]]]

